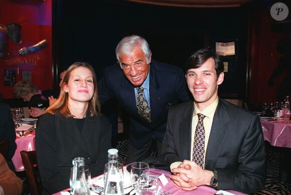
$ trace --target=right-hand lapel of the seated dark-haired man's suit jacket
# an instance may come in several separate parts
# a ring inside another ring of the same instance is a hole
[[[227,124],[229,123],[229,121],[230,118],[227,109],[222,101],[219,99],[208,140],[208,146],[205,156],[205,169],[212,170],[214,168],[221,147],[226,141],[225,138],[228,134]]]

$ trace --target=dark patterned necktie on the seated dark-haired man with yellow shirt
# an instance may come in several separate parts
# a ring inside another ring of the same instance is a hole
[[[195,140],[193,146],[193,161],[201,168],[204,168],[204,151],[205,151],[205,130],[203,125],[204,115],[198,114],[198,124],[195,131]]]

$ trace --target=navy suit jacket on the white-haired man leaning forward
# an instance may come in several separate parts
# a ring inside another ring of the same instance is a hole
[[[140,148],[153,134],[162,141],[169,108],[190,100],[185,74],[179,67],[152,60],[150,64],[150,102],[152,123],[141,118],[137,112],[134,86],[124,76],[119,64],[106,69],[98,82],[98,96],[101,105],[112,97],[129,114],[129,139]]]

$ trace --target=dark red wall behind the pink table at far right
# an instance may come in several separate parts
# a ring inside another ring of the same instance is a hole
[[[278,66],[281,57],[276,49],[277,42],[289,35],[272,32],[271,26],[274,20],[268,8],[256,10],[252,18],[250,103],[271,103],[277,101],[277,88],[284,76],[281,74],[276,77],[274,86],[267,85],[268,78]]]

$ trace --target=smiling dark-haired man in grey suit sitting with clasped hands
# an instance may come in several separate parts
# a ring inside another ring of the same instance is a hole
[[[188,58],[186,80],[194,102],[170,109],[162,156],[171,164],[171,178],[181,189],[209,185],[254,193],[265,181],[262,127],[258,116],[218,97],[223,69],[220,57],[211,50],[199,50]],[[201,133],[204,143],[196,148],[200,114],[205,116],[205,135]],[[200,157],[198,149],[204,150]]]

